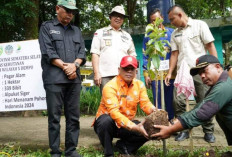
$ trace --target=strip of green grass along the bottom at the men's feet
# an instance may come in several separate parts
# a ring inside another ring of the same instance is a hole
[[[172,149],[171,149],[172,148]],[[25,148],[24,148],[25,149]],[[212,147],[212,148],[195,148],[193,154],[189,153],[188,148],[175,148],[174,146],[168,147],[165,157],[207,157],[214,154],[215,157],[221,157],[222,153],[231,151],[229,147]],[[94,147],[80,147],[78,152],[83,157],[104,157],[102,148]],[[5,153],[5,154],[3,154]],[[9,156],[7,155],[9,154]],[[0,146],[0,157],[49,157],[49,150],[23,150],[15,146]],[[137,153],[136,157],[164,157],[163,150],[155,145],[144,145]],[[120,157],[118,152],[115,152],[115,157]]]

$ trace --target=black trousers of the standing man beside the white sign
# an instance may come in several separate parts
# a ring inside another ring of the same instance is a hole
[[[48,111],[48,136],[51,154],[60,151],[60,117],[62,106],[66,119],[65,155],[71,155],[77,147],[79,137],[81,84],[44,85]]]

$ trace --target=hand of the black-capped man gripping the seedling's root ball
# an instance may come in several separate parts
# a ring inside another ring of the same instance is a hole
[[[169,126],[154,125],[154,127],[160,129],[160,132],[152,134],[151,137],[156,137],[158,140],[160,140],[169,138],[171,136],[171,129]]]

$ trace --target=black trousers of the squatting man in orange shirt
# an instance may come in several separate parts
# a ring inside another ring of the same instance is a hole
[[[140,123],[139,121],[134,121],[136,124]],[[113,138],[120,138],[122,140],[129,153],[134,153],[137,151],[145,142],[148,140],[136,133],[129,131],[125,128],[118,128],[114,120],[107,114],[101,115],[94,123],[94,130],[99,137],[99,140],[104,147],[105,156],[112,156],[113,151]]]

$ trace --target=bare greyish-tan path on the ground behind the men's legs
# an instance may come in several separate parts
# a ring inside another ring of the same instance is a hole
[[[94,117],[80,118],[80,137],[78,146],[82,147],[101,147],[98,137],[95,134],[91,124]],[[143,119],[143,118],[138,118]],[[47,117],[0,117],[0,144],[16,145],[26,149],[48,149],[48,131]],[[65,118],[61,119],[61,146],[64,146]],[[227,142],[224,133],[215,122],[216,143],[210,144],[203,140],[204,133],[201,127],[193,129],[193,143],[197,147],[224,147]],[[115,140],[114,140],[115,142]],[[148,144],[162,146],[162,142],[150,141]],[[170,147],[189,146],[189,140],[182,142],[174,141],[174,137],[167,139],[167,145]]]

